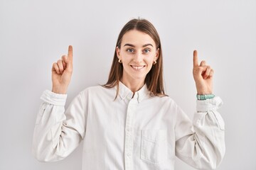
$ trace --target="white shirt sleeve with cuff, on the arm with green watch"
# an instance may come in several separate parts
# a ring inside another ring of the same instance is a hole
[[[197,101],[193,123],[177,108],[176,156],[196,169],[216,169],[225,154],[225,124],[219,97]]]

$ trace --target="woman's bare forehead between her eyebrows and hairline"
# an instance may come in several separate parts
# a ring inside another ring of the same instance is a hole
[[[156,47],[156,43],[154,42],[153,38],[139,30],[129,30],[123,35],[122,45],[125,45],[127,43],[138,47],[145,44],[151,44]]]

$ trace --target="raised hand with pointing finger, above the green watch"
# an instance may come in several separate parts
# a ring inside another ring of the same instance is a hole
[[[213,69],[206,65],[206,61],[202,61],[198,65],[197,51],[193,51],[193,78],[196,82],[196,89],[198,94],[212,94],[213,93]]]

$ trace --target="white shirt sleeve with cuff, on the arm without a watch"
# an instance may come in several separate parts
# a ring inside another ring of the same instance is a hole
[[[44,91],[33,132],[33,155],[41,162],[55,162],[67,157],[85,135],[86,106],[82,95],[76,96],[65,111],[67,95]]]

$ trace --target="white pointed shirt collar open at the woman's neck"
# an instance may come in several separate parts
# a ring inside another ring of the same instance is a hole
[[[127,86],[119,81],[119,96],[120,98],[122,98],[122,100],[124,100],[125,98],[131,100],[133,96],[134,99],[137,99],[138,102],[141,102],[149,93],[150,92],[147,89],[146,84],[144,84],[144,86],[142,86],[142,88],[139,89],[139,91],[136,91],[134,94]]]

